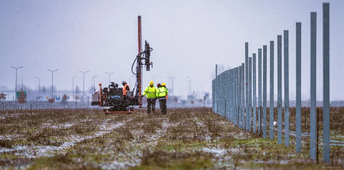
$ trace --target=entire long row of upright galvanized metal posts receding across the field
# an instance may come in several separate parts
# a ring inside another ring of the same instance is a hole
[[[316,12],[311,12],[311,81],[310,81],[310,158],[316,158]],[[289,147],[289,31],[283,32],[284,55],[284,146]],[[263,56],[262,56],[263,51]],[[253,60],[252,60],[253,59]],[[262,61],[263,60],[263,61]],[[274,41],[270,41],[270,140],[274,123]],[[330,162],[329,143],[329,3],[323,3],[323,159]],[[253,78],[253,82],[252,82]],[[253,85],[253,93],[252,93]],[[267,46],[258,49],[258,105],[256,101],[256,53],[248,57],[245,42],[245,63],[217,74],[212,81],[213,112],[225,116],[235,126],[267,138]],[[277,36],[277,141],[282,143],[282,35]],[[253,94],[253,100],[252,100]],[[252,103],[253,102],[253,103]],[[260,109],[262,108],[262,110]],[[252,112],[253,109],[253,112]],[[258,110],[258,122],[257,119]],[[252,122],[253,115],[253,122]],[[262,116],[262,117],[261,117]],[[262,122],[261,122],[262,121]],[[296,152],[301,152],[301,23],[296,23]],[[258,129],[257,129],[258,126]]]

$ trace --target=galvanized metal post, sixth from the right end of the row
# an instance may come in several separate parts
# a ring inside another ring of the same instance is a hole
[[[273,50],[274,50],[274,42],[270,41],[270,140],[273,140]]]

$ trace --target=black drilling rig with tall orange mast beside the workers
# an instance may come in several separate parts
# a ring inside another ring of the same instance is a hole
[[[153,68],[153,62],[150,61],[150,52],[153,50],[147,40],[144,44],[144,51],[142,51],[142,37],[141,37],[141,16],[138,19],[138,55],[131,66],[131,72],[136,76],[136,83],[132,91],[125,91],[123,95],[123,88],[119,88],[118,84],[111,82],[108,87],[102,88],[99,83],[99,92],[92,95],[92,106],[99,106],[103,108],[104,113],[132,113],[133,106],[142,108],[142,68],[145,66],[146,71]],[[144,62],[142,61],[144,60]],[[133,71],[134,65],[136,69]],[[136,90],[135,90],[136,88]],[[134,95],[135,91],[135,95]]]

